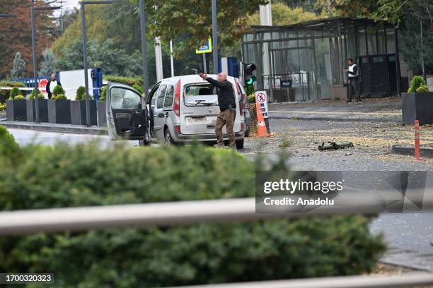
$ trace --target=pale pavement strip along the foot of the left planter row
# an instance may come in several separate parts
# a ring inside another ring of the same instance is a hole
[[[107,127],[97,127],[97,126],[86,127],[83,125],[71,125],[71,124],[6,121],[6,119],[0,119],[0,125],[6,126],[7,128],[28,129],[28,130],[44,131],[44,132],[108,135]]]

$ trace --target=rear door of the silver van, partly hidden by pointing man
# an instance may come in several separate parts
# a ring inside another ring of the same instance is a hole
[[[234,83],[232,85],[234,88]],[[180,109],[180,133],[186,135],[214,134],[215,123],[219,114],[217,88],[207,81],[201,81],[183,84],[182,91],[180,100],[182,105]],[[237,103],[236,90],[235,97]],[[237,115],[239,115],[238,109],[236,107]],[[240,121],[235,121],[233,131],[241,131]],[[225,126],[223,132],[226,133]]]

